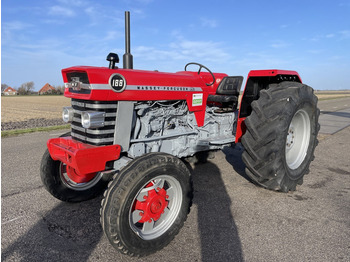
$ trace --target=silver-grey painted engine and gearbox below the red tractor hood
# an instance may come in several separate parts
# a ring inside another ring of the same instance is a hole
[[[221,149],[234,141],[235,123],[235,112],[222,113],[215,106],[207,106],[205,123],[198,127],[185,101],[139,103],[135,106],[128,155],[134,158],[164,152],[187,157]]]

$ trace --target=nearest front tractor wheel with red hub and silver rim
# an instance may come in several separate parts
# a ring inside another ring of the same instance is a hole
[[[118,251],[145,256],[170,243],[191,201],[185,164],[172,155],[150,153],[130,162],[109,185],[102,200],[102,227]]]

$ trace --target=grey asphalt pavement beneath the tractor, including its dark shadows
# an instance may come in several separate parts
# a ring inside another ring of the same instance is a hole
[[[45,141],[58,135],[2,139],[2,261],[137,261],[103,235],[101,198],[68,204],[42,187]],[[194,166],[184,228],[142,261],[350,261],[349,148],[350,128],[321,135],[311,172],[288,194],[252,184],[239,145],[218,152]]]

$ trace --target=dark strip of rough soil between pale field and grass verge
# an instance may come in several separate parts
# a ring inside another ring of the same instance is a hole
[[[15,130],[15,129],[27,129],[35,127],[46,127],[46,126],[59,126],[65,125],[62,118],[56,119],[45,119],[45,118],[33,118],[26,121],[18,122],[1,122],[1,131]]]

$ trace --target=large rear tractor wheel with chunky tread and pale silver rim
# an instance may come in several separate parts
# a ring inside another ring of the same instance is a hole
[[[314,159],[319,114],[307,85],[282,82],[261,90],[242,137],[247,175],[267,189],[294,191]]]

